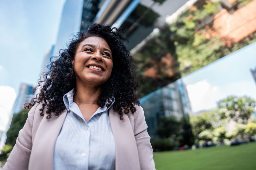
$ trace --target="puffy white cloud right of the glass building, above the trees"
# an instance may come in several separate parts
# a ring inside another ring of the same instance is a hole
[[[216,101],[220,98],[219,88],[210,85],[207,80],[187,85],[187,91],[193,112],[216,107]]]

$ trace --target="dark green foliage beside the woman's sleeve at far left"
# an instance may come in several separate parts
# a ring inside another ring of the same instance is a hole
[[[13,115],[10,129],[6,133],[6,144],[15,145],[19,131],[23,128],[27,118],[28,110],[21,110],[18,114]]]

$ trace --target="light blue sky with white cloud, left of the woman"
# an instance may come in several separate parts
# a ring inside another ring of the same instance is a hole
[[[0,130],[21,82],[35,85],[55,43],[65,0],[0,1]]]

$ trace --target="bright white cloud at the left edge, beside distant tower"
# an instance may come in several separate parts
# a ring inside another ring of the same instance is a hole
[[[0,130],[5,130],[16,99],[14,88],[0,86]]]

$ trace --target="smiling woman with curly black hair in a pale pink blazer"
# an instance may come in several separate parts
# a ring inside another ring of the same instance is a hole
[[[3,170],[155,169],[123,41],[93,24],[51,61]]]

